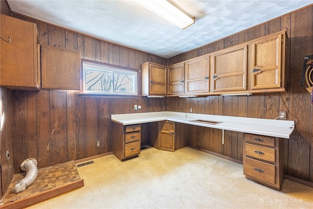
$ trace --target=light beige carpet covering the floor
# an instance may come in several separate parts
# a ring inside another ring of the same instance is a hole
[[[285,179],[281,191],[245,179],[243,165],[190,147],[153,147],[78,168],[85,186],[29,209],[313,209],[313,188]]]

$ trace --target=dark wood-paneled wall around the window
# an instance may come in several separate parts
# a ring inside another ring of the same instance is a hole
[[[64,28],[13,14],[37,24],[41,45],[81,51],[84,59],[140,69],[147,61],[165,65],[166,59],[115,45]],[[139,72],[140,75],[140,72]],[[165,111],[166,99],[106,98],[79,95],[79,91],[13,92],[14,170],[35,158],[38,167],[79,160],[112,151],[111,115]],[[142,109],[134,111],[134,104]],[[100,140],[100,147],[96,141]],[[145,139],[142,140],[145,143]]]

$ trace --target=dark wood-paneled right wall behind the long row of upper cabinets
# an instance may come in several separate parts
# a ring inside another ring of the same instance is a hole
[[[194,113],[274,119],[278,111],[287,111],[288,119],[296,120],[295,131],[285,143],[285,174],[313,182],[313,119],[311,95],[300,78],[305,55],[313,54],[313,5],[256,25],[224,39],[168,59],[168,65],[235,46],[280,30],[287,30],[289,50],[286,59],[289,86],[287,93],[257,93],[252,96],[207,96],[169,98],[167,110]],[[191,146],[242,160],[241,133],[197,127],[191,129]]]

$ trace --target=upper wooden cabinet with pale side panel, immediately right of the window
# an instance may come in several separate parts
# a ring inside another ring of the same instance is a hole
[[[154,63],[144,63],[142,70],[142,90],[143,96],[166,95],[166,66]]]

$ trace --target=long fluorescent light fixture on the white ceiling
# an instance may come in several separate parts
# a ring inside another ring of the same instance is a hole
[[[175,24],[176,26],[184,29],[193,23],[195,18],[191,18],[176,6],[168,2],[167,0],[133,0],[137,4],[145,7],[146,9],[157,14],[161,18]]]

